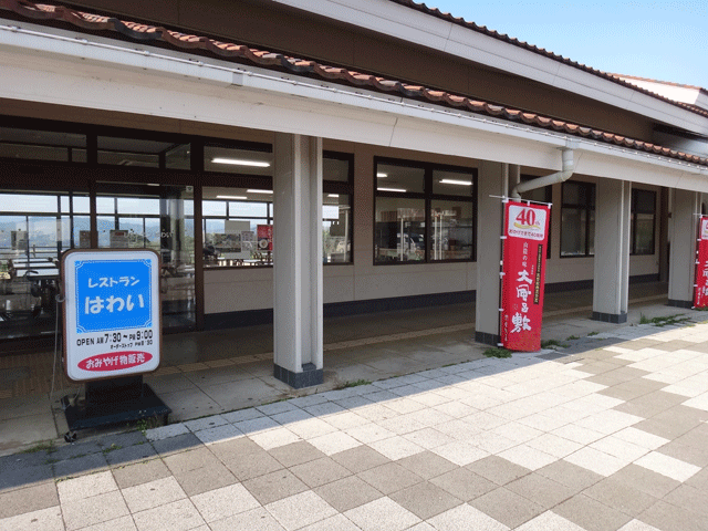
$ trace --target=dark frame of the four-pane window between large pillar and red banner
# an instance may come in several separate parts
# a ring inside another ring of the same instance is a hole
[[[419,191],[381,191],[377,187],[377,177],[376,174],[378,171],[378,165],[385,164],[389,166],[400,166],[407,168],[423,169],[424,170],[424,184],[423,184],[423,192]],[[464,195],[450,195],[450,194],[434,194],[433,192],[433,174],[435,170],[440,171],[452,171],[459,174],[469,175],[472,180],[472,192],[469,196]],[[478,191],[478,168],[470,168],[467,166],[455,166],[449,164],[438,164],[438,163],[429,163],[429,162],[420,162],[420,160],[408,160],[403,158],[393,158],[385,156],[374,156],[374,174],[373,178],[373,215],[374,222],[373,225],[373,243],[374,248],[376,247],[376,199],[378,197],[388,197],[388,198],[399,198],[399,199],[423,199],[424,201],[424,211],[425,211],[425,256],[423,260],[406,260],[406,261],[377,261],[376,252],[373,248],[373,266],[414,266],[414,264],[423,264],[423,263],[452,263],[452,262],[476,262],[477,261],[477,191]],[[469,202],[472,205],[472,251],[470,253],[470,258],[451,258],[444,260],[434,260],[431,259],[431,246],[433,238],[430,235],[430,230],[433,227],[431,223],[431,208],[433,201],[458,201],[458,202]]]

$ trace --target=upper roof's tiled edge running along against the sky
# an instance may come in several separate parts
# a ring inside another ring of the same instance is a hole
[[[407,8],[410,9],[415,9],[416,11],[420,11],[423,13],[429,14],[431,17],[436,17],[438,19],[442,19],[446,20],[448,22],[452,22],[455,24],[465,27],[469,30],[476,31],[478,33],[482,33],[487,37],[491,37],[493,39],[498,39],[500,41],[503,41],[508,44],[513,44],[514,46],[519,46],[519,48],[523,48],[524,50],[529,50],[531,52],[538,53],[540,55],[544,55],[549,59],[552,59],[554,61],[559,61],[563,64],[566,64],[569,66],[573,66],[575,69],[580,69],[583,70],[585,72],[589,72],[593,75],[597,75],[600,77],[604,77],[607,81],[612,81],[614,83],[617,83],[620,85],[625,85],[628,88],[632,88],[634,91],[638,91],[642,92],[644,94],[647,94],[649,96],[656,97],[657,100],[662,100],[666,103],[670,103],[673,105],[676,105],[678,107],[683,107],[687,111],[697,113],[697,114],[702,114],[704,116],[708,116],[708,112],[695,106],[695,105],[689,105],[686,103],[681,103],[681,102],[675,102],[674,100],[670,100],[668,97],[662,96],[660,94],[656,94],[652,91],[647,91],[646,88],[642,88],[638,87],[636,85],[633,85],[632,83],[625,82],[624,80],[620,79],[617,75],[615,74],[611,74],[608,72],[603,72],[601,70],[596,70],[593,69],[592,66],[587,66],[585,64],[579,63],[577,61],[572,61],[568,58],[564,58],[563,55],[559,55],[558,53],[553,53],[553,52],[549,52],[548,50],[543,49],[543,48],[539,48],[535,46],[533,44],[529,44],[528,42],[524,41],[520,41],[519,39],[516,39],[513,37],[509,37],[506,33],[499,33],[496,30],[490,30],[488,29],[486,25],[478,25],[475,22],[468,22],[466,21],[464,18],[461,17],[452,17],[450,13],[444,13],[442,11],[440,11],[438,8],[428,8],[425,3],[418,3],[418,2],[414,2],[413,0],[388,0],[391,2],[394,3],[398,3],[400,6],[405,6]],[[626,76],[623,76],[626,77]]]

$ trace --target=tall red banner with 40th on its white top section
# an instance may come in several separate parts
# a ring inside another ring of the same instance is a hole
[[[518,201],[504,208],[501,343],[511,351],[541,348],[550,211]]]

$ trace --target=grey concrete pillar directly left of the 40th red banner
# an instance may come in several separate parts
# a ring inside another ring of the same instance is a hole
[[[482,162],[477,187],[477,302],[475,341],[494,345],[499,336],[499,269],[503,208],[509,195],[506,164]],[[497,197],[490,197],[497,196]]]

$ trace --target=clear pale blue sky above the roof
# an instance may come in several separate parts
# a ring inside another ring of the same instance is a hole
[[[426,4],[603,72],[708,90],[708,0]]]

